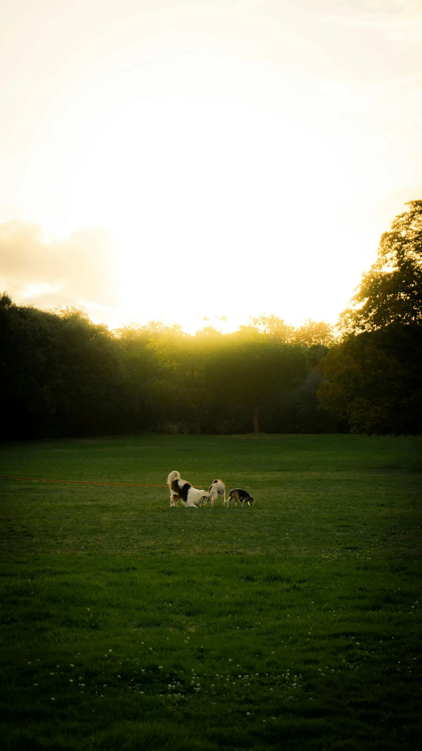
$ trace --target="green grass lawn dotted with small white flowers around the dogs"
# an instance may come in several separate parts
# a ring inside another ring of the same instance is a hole
[[[5,749],[419,749],[422,441],[14,442],[1,480]]]

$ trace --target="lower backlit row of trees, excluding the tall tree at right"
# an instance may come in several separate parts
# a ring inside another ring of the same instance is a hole
[[[294,329],[275,317],[226,335],[155,323],[111,332],[80,311],[3,294],[2,438],[333,432],[316,396],[330,336],[327,324]]]

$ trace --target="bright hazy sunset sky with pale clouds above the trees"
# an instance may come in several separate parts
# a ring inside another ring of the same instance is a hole
[[[0,2],[0,290],[335,322],[422,198],[422,0]]]

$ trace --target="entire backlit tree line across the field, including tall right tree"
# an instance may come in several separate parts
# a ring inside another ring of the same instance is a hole
[[[396,217],[336,333],[276,316],[194,336],[110,331],[0,297],[2,439],[107,433],[420,433],[422,201]]]

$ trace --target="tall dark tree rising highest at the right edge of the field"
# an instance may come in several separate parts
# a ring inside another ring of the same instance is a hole
[[[422,201],[396,216],[340,317],[318,391],[354,433],[422,432]]]

